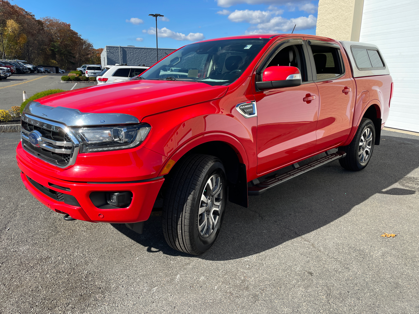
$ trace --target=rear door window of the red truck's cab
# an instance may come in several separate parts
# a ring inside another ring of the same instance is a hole
[[[310,48],[316,65],[317,80],[334,79],[343,74],[340,49],[321,45],[310,45]]]

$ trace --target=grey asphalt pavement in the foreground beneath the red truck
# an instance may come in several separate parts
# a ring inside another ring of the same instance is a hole
[[[1,313],[419,313],[419,136],[383,131],[363,171],[228,203],[202,256],[172,250],[160,217],[141,235],[64,221],[25,190],[18,141],[0,133]]]

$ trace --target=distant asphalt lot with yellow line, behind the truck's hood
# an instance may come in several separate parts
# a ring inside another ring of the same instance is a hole
[[[70,90],[75,83],[61,83],[63,74],[27,73],[14,74],[6,80],[0,81],[0,109],[8,110],[12,106],[20,106],[23,101],[23,91],[28,97],[43,90]],[[96,83],[77,84],[76,88],[94,86]]]

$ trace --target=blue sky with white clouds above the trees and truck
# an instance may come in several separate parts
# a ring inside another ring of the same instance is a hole
[[[178,48],[193,41],[248,33],[316,33],[318,0],[13,0],[36,18],[70,23],[95,48],[105,45]]]

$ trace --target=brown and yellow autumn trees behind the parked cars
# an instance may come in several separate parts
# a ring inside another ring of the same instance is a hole
[[[5,38],[5,53],[10,59],[25,59],[32,64],[56,65],[75,69],[99,60],[101,49],[81,38],[69,23],[56,18],[35,16],[8,0],[0,0],[0,31]]]

